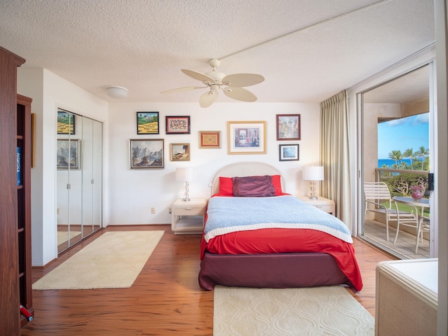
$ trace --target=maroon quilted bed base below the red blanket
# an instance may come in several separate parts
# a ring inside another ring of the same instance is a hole
[[[205,253],[199,273],[201,288],[215,285],[252,288],[295,288],[346,284],[349,279],[327,253]]]

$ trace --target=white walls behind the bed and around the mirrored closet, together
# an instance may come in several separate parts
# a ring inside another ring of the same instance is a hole
[[[319,161],[319,104],[216,103],[208,109],[197,103],[107,103],[46,69],[19,68],[18,93],[33,99],[36,113],[36,160],[31,169],[32,265],[57,258],[57,108],[104,123],[104,225],[166,224],[170,204],[183,194],[176,167],[195,168],[191,197],[209,197],[214,174],[233,162],[260,161],[277,167],[286,178],[286,192],[304,195],[302,166]],[[160,134],[137,135],[137,111],[160,113]],[[276,114],[301,117],[300,141],[276,141]],[[190,134],[165,134],[165,116],[190,116]],[[227,122],[265,120],[267,153],[228,155]],[[221,148],[200,149],[198,131],[220,130]],[[130,139],[165,139],[165,169],[130,169]],[[188,162],[170,162],[169,144],[190,143]],[[279,162],[279,144],[300,144],[299,161]],[[151,214],[151,207],[155,214]]]

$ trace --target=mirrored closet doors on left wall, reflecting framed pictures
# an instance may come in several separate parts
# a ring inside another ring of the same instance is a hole
[[[58,253],[102,227],[103,124],[57,111]]]

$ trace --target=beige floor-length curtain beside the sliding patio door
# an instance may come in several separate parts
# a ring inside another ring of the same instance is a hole
[[[337,218],[351,229],[347,91],[321,102],[321,195],[335,201]]]

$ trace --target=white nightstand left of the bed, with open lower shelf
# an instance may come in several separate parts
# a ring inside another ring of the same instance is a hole
[[[192,198],[183,202],[181,198],[171,206],[171,230],[175,235],[202,234],[204,230],[205,198]]]

